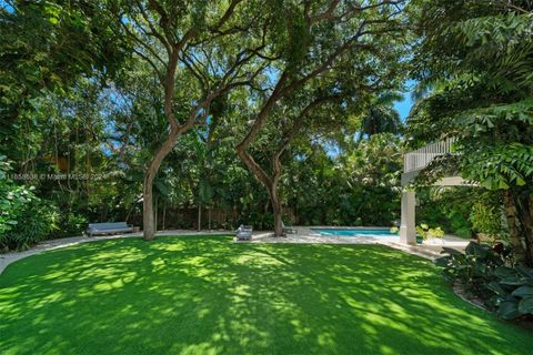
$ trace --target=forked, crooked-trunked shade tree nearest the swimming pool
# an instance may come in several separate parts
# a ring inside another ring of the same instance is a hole
[[[383,64],[383,58],[391,58],[395,53],[394,40],[388,34],[398,30],[401,3],[402,1],[303,1],[285,2],[275,9],[289,13],[285,27],[278,33],[282,44],[274,48],[274,53],[271,54],[281,60],[275,62],[275,70],[272,70],[270,80],[262,88],[266,94],[254,113],[253,123],[237,145],[239,158],[269,192],[274,214],[274,235],[282,234],[282,211],[278,195],[280,155],[316,106],[331,101],[345,105],[349,101],[345,99],[350,94],[355,95],[353,91],[358,84],[372,87],[390,73],[384,69],[386,65],[376,65],[376,70],[372,71],[368,63],[375,60]],[[380,57],[383,58],[380,60]],[[349,87],[349,92],[345,82],[343,85],[340,84],[342,80],[328,78],[335,77],[335,70],[338,75],[346,75],[350,78],[348,80],[354,81]],[[294,101],[299,93],[305,97],[300,103]],[[284,100],[294,103],[286,115],[279,112],[288,105],[283,103]],[[250,146],[269,125],[269,121],[280,115],[289,122],[281,131],[280,143],[270,155],[269,173],[254,159]]]

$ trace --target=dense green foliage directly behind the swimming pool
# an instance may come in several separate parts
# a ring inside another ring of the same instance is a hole
[[[344,142],[342,154],[332,148],[302,144],[289,164],[284,189],[298,224],[392,225],[399,219],[400,139],[375,134],[360,142]],[[309,191],[313,191],[312,194]],[[375,203],[380,201],[380,203]]]

